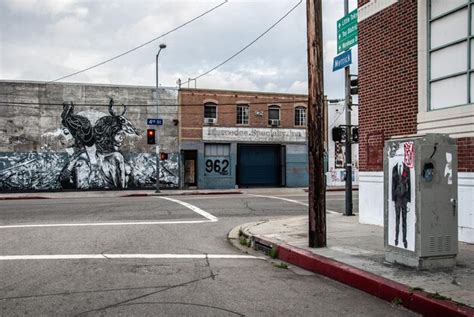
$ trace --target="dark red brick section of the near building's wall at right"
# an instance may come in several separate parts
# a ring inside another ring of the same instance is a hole
[[[416,1],[399,1],[361,21],[358,40],[360,170],[381,171],[383,140],[416,133]]]

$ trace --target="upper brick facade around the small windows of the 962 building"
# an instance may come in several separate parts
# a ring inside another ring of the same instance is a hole
[[[268,124],[268,106],[280,106],[279,128],[301,128],[294,125],[294,109],[297,105],[307,105],[306,95],[272,94],[257,92],[218,91],[207,89],[180,90],[181,131],[180,137],[201,139],[204,125],[204,103],[217,103],[217,123],[214,127],[250,127],[270,128]],[[237,104],[250,106],[249,124],[237,125]],[[257,116],[256,112],[263,113]]]

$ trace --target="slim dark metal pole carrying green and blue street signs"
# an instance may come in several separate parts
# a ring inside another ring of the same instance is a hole
[[[344,16],[349,13],[349,0],[344,0]],[[352,216],[352,127],[351,127],[351,67],[344,68],[346,86],[346,209],[344,216]]]

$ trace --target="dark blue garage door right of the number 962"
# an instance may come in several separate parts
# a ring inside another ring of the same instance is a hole
[[[280,185],[279,145],[238,145],[239,186]]]

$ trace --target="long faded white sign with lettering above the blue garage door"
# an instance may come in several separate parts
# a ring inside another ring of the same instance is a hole
[[[204,141],[306,142],[305,129],[203,127]]]

